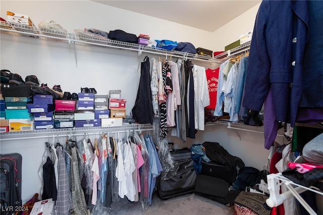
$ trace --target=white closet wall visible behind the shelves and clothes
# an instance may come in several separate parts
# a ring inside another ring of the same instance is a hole
[[[36,24],[42,20],[55,20],[69,32],[83,28],[105,31],[122,29],[136,35],[149,34],[156,39],[189,41],[196,47],[206,48],[212,44],[214,50],[223,49],[232,42],[231,38],[239,38],[240,34],[249,31],[256,10],[254,8],[250,14],[241,15],[241,19],[237,18],[228,27],[222,27],[222,31],[210,33],[89,1],[1,1],[0,4],[2,17],[6,17],[6,11],[13,11],[29,15]],[[243,19],[245,25],[240,22]],[[232,28],[234,22],[241,27]],[[165,31],[160,26],[168,26],[176,31]],[[95,87],[98,94],[107,94],[110,89],[121,89],[122,97],[127,99],[128,114],[134,105],[140,76],[137,69],[143,60],[137,52],[77,45],[75,57],[73,46],[67,43],[5,34],[1,35],[0,48],[1,69],[9,69],[23,78],[36,75],[41,83],[47,83],[49,87],[60,84],[64,91],[69,92],[79,92],[80,87]],[[194,63],[205,68],[219,66],[199,61]],[[77,140],[81,138],[78,136]],[[64,139],[61,136],[60,142],[64,142]],[[39,192],[37,171],[45,141],[48,138],[1,141],[2,154],[18,152],[23,155],[23,201]],[[185,143],[176,137],[169,137],[169,141],[175,142],[176,148],[190,147],[192,143],[204,141],[219,142],[229,153],[242,158],[246,166],[260,170],[268,154],[263,147],[262,134],[229,130],[224,125],[206,126],[204,132],[198,131],[196,139],[188,139]],[[278,141],[283,142],[283,139],[279,138]]]

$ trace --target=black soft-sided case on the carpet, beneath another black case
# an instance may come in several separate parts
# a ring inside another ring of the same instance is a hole
[[[229,202],[227,202],[226,198],[230,185],[224,179],[199,174],[196,177],[194,193],[222,204],[228,204]]]

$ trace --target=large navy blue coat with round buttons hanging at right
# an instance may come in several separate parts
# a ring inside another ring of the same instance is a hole
[[[292,126],[302,93],[302,59],[308,40],[307,8],[307,1],[261,2],[242,101],[246,109],[260,111],[271,89],[275,119]]]

